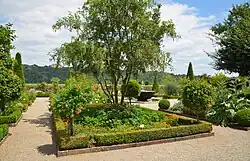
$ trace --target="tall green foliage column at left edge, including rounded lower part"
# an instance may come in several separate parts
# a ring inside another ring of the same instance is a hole
[[[11,24],[0,25],[0,112],[5,110],[6,103],[17,100],[23,89],[20,78],[12,71],[10,50],[16,36],[11,27]]]

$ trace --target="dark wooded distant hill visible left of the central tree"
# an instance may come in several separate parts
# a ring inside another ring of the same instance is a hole
[[[26,83],[51,83],[52,77],[58,77],[64,83],[68,77],[69,68],[54,68],[52,66],[38,66],[24,64],[24,76]]]

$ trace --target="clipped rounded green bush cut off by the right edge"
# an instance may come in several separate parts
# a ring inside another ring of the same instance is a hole
[[[250,126],[250,109],[242,109],[236,112],[234,120],[241,126]]]

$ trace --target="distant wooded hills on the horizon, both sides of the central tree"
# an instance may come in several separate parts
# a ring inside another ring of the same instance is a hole
[[[62,68],[54,68],[53,66],[38,66],[38,65],[26,65],[24,64],[24,76],[26,83],[51,83],[52,77],[58,77],[61,82],[64,83],[68,77],[69,68],[62,67]],[[184,77],[185,75],[174,75],[169,73],[160,72],[157,74],[159,83],[162,82],[163,78],[166,75],[170,75],[175,79],[179,79]],[[153,84],[155,74],[154,72],[146,72],[146,73],[139,73],[137,77],[132,77],[132,79],[136,79],[139,82],[144,82],[144,84]]]

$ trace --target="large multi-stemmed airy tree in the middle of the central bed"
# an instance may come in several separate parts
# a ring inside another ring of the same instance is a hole
[[[117,104],[119,83],[127,87],[133,75],[166,63],[162,40],[177,35],[171,20],[161,21],[160,8],[153,0],[88,0],[78,12],[53,25],[55,30],[75,31],[69,44],[79,52],[72,48],[65,52],[63,46],[51,57],[58,64],[78,64],[78,71],[90,70],[111,103]],[[120,104],[126,92],[122,92]]]

